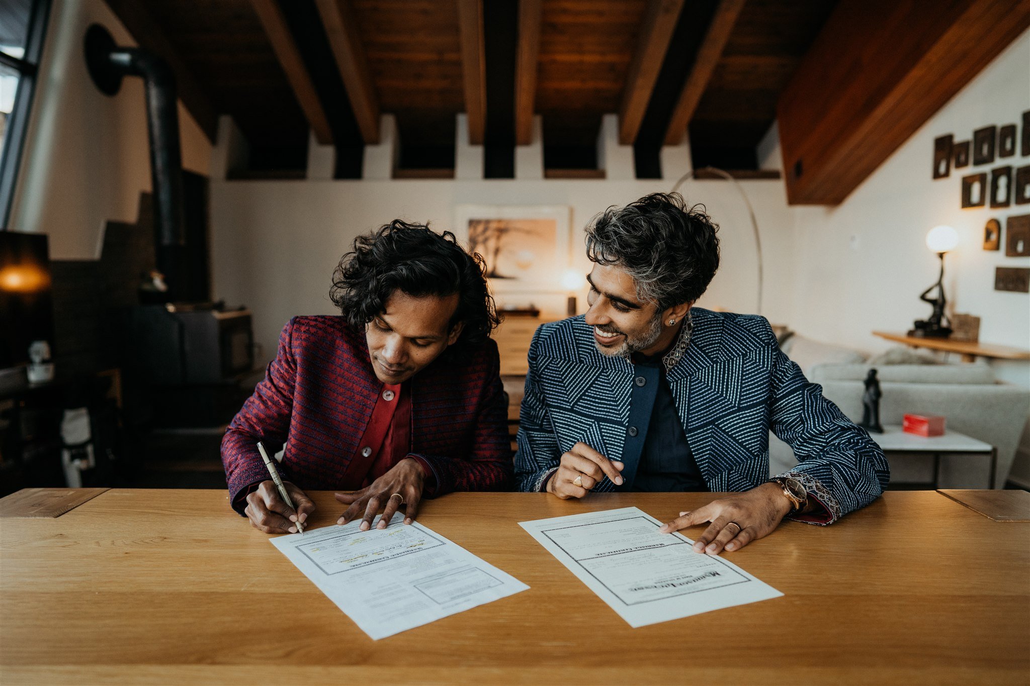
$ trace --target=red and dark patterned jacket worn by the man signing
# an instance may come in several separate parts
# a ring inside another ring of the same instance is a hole
[[[513,466],[497,346],[450,348],[411,378],[411,455],[433,469],[427,496],[512,488]],[[233,507],[269,478],[259,440],[302,490],[342,490],[382,384],[365,333],[343,317],[295,317],[279,335],[275,360],[221,440]]]

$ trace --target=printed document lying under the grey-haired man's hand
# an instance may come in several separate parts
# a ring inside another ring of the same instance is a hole
[[[636,507],[520,522],[633,627],[783,595],[662,523]]]

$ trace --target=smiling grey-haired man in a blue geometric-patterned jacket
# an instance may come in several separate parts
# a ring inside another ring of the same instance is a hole
[[[529,347],[515,471],[522,491],[741,492],[665,523],[709,521],[694,550],[737,550],[784,517],[828,525],[890,478],[883,450],[823,397],[756,315],[693,306],[719,267],[718,226],[677,194],[587,226],[589,311]],[[769,478],[768,433],[800,464]]]

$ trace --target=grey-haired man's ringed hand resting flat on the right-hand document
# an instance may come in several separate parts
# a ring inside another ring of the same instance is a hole
[[[776,483],[713,500],[693,512],[662,525],[658,531],[668,534],[705,521],[712,523],[694,540],[694,552],[717,555],[723,549],[740,550],[751,541],[768,536],[791,510],[791,503]],[[735,527],[732,525],[736,525]]]

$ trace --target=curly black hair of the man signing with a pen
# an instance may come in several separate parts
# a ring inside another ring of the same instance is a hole
[[[400,290],[412,297],[459,295],[450,327],[464,322],[455,345],[484,341],[497,324],[482,256],[469,254],[454,234],[394,219],[354,239],[333,272],[330,297],[347,322],[363,329]]]

